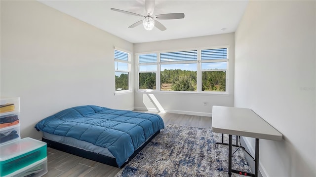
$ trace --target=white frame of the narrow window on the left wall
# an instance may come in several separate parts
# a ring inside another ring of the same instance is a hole
[[[128,73],[128,80],[127,80],[127,86],[128,86],[128,89],[127,90],[116,90],[116,81],[114,79],[114,90],[115,90],[115,94],[122,94],[122,93],[127,93],[127,92],[131,92],[132,91],[132,85],[131,85],[131,78],[132,78],[132,75],[131,75],[131,65],[132,65],[132,62],[131,62],[131,52],[129,51],[126,51],[124,49],[120,49],[118,47],[115,47],[114,48],[114,52],[118,50],[120,52],[124,52],[124,53],[127,53],[128,54],[128,61],[125,61],[125,60],[120,60],[120,59],[116,59],[115,56],[114,56],[114,62],[121,62],[121,63],[127,63],[127,70],[128,71],[124,71],[124,70],[117,70],[116,68],[114,69],[114,77],[115,77],[115,72],[127,72]],[[115,64],[114,64],[115,65]]]

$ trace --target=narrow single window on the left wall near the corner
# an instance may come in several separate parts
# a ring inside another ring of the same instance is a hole
[[[115,90],[129,90],[130,57],[126,52],[114,50]]]

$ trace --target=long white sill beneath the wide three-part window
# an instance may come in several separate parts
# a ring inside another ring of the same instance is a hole
[[[185,91],[137,90],[136,93],[231,96],[231,94],[229,94],[228,92],[185,92]]]

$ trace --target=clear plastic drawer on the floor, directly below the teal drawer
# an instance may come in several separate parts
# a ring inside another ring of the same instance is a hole
[[[41,177],[48,172],[47,157],[4,177]]]

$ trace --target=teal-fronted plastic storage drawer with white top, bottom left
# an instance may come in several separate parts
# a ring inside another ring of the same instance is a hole
[[[0,177],[10,175],[47,157],[46,142],[24,138],[0,145]]]

